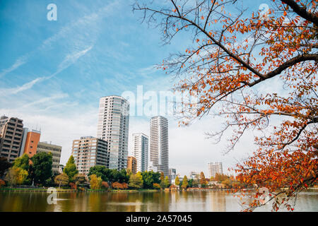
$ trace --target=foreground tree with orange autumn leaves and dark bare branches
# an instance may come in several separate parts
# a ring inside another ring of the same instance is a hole
[[[223,129],[208,136],[220,141],[232,131],[225,152],[256,131],[257,149],[237,163],[236,179],[269,189],[273,210],[293,210],[290,201],[317,183],[317,1],[272,0],[266,11],[253,12],[236,0],[169,2],[160,8],[138,1],[134,10],[162,28],[164,42],[179,32],[193,40],[161,65],[179,78],[177,92],[196,97],[182,102],[180,121],[223,117]],[[262,85],[273,87],[261,92]],[[234,191],[252,197],[245,210],[267,203],[259,202],[259,192]]]

